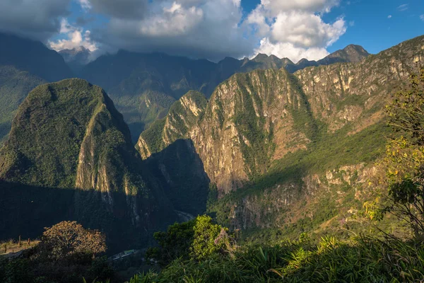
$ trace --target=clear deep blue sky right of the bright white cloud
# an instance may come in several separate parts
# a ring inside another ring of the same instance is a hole
[[[245,13],[250,13],[260,0],[242,0]],[[398,8],[404,6],[404,9]],[[403,10],[403,11],[401,11]],[[400,42],[424,34],[424,0],[351,0],[341,1],[339,6],[324,15],[331,22],[344,16],[349,25],[346,33],[328,48],[329,52],[347,45],[362,45],[370,53],[397,45]],[[389,18],[389,16],[391,16]]]

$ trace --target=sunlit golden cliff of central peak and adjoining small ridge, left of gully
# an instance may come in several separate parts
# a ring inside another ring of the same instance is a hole
[[[176,139],[192,139],[221,193],[266,172],[274,158],[305,148],[315,127],[298,82],[284,69],[236,74],[216,88],[207,107],[199,101],[192,93],[183,96],[163,125],[141,134],[137,146],[146,158]],[[158,147],[154,133],[160,133]]]

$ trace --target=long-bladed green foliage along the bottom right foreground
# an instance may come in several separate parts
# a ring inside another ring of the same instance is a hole
[[[241,248],[234,258],[175,260],[139,282],[415,282],[424,275],[420,242],[359,236]]]

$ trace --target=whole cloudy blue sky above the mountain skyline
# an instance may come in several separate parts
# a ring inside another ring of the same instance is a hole
[[[0,0],[0,31],[92,59],[119,49],[218,61],[378,53],[424,34],[424,0]]]

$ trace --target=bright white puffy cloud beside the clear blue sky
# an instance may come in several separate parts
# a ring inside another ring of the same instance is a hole
[[[255,53],[288,57],[322,59],[329,47],[346,33],[346,21],[338,18],[325,23],[322,15],[338,5],[336,0],[261,0],[246,23],[261,36]]]

